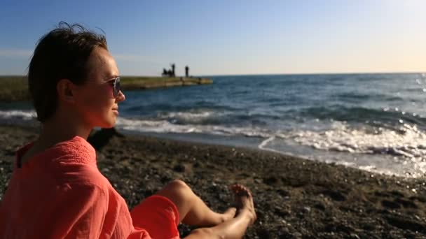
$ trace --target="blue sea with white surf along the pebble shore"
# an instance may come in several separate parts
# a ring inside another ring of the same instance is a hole
[[[203,77],[214,83],[124,92],[116,128],[426,175],[426,73]],[[1,123],[34,118],[29,102],[0,103]]]

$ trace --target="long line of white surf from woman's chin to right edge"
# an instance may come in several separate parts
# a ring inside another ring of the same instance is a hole
[[[168,117],[200,119],[211,113],[170,113]],[[415,124],[401,124],[399,128],[367,127],[355,128],[347,122],[333,122],[329,129],[273,131],[257,126],[239,127],[212,124],[174,124],[166,119],[118,118],[118,128],[155,133],[207,133],[222,136],[245,136],[273,140],[290,139],[299,145],[317,150],[349,152],[355,154],[388,154],[397,157],[426,159],[426,133]],[[266,142],[268,143],[268,142]],[[260,145],[259,147],[265,147]]]

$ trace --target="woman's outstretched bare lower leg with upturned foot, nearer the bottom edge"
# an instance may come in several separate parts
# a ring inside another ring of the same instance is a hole
[[[238,204],[237,217],[211,228],[196,229],[188,235],[187,239],[197,238],[242,238],[247,227],[256,220],[252,194],[241,185],[232,187],[235,202]]]

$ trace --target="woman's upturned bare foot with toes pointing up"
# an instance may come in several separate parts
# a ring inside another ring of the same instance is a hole
[[[249,189],[241,184],[234,184],[231,190],[235,196],[235,203],[238,209],[238,215],[246,214],[250,218],[250,224],[256,221],[256,212],[254,211],[253,196]]]

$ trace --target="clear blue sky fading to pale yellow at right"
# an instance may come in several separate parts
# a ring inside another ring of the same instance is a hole
[[[424,0],[0,0],[0,75],[62,20],[102,29],[121,75],[426,71]]]

